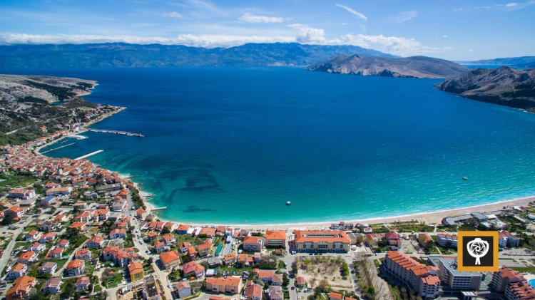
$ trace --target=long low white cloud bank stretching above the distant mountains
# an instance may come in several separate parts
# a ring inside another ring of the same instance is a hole
[[[325,31],[312,28],[305,24],[290,24],[295,29],[295,35],[232,35],[232,34],[180,34],[175,37],[138,37],[138,36],[96,36],[96,35],[33,35],[20,33],[0,33],[0,44],[61,44],[61,43],[161,43],[163,45],[185,45],[205,48],[239,46],[244,43],[309,43],[318,45],[353,45],[372,48],[377,51],[411,56],[424,53],[444,53],[451,51],[450,47],[433,48],[423,46],[414,38],[400,36],[347,34],[338,38],[326,38]]]

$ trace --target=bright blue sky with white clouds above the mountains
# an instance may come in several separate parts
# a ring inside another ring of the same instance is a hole
[[[456,61],[535,55],[535,0],[2,0],[0,44],[355,45]]]

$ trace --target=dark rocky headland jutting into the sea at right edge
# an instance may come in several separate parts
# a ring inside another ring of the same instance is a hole
[[[535,112],[535,69],[477,68],[448,78],[437,88],[466,98]]]

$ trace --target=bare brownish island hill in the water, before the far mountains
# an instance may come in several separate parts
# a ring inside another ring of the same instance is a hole
[[[458,63],[426,56],[388,58],[377,56],[335,56],[307,68],[310,71],[360,76],[446,78],[468,70]]]

